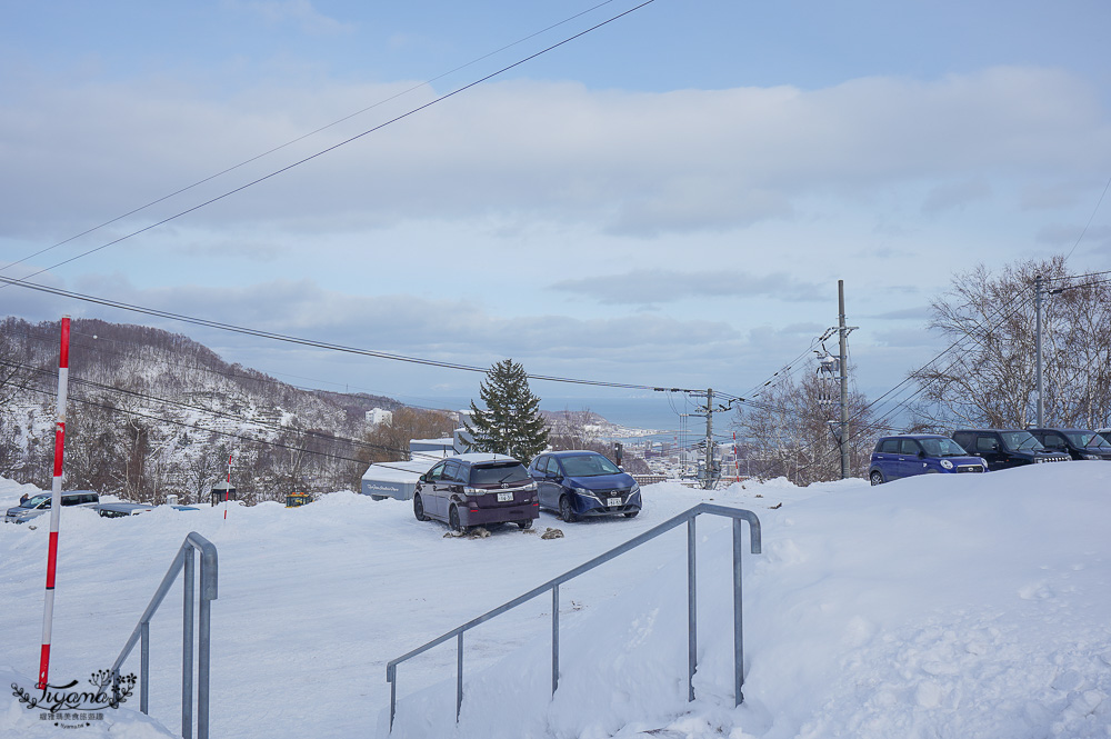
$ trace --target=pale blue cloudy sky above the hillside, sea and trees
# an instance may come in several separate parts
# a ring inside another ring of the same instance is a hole
[[[382,4],[4,3],[0,276],[744,397],[812,356],[843,280],[878,397],[947,346],[929,306],[955,274],[1111,262],[1102,0]],[[481,380],[26,288],[0,314],[158,326],[416,405]]]

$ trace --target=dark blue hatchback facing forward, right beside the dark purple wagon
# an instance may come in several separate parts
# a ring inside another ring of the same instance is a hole
[[[594,516],[640,512],[640,486],[597,451],[553,451],[539,455],[529,476],[540,493],[540,507],[559,513],[568,523]]]

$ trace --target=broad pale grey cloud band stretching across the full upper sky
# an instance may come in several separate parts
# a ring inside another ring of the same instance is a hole
[[[21,88],[20,106],[0,119],[0,228],[69,236],[361,108],[136,222],[352,137],[187,220],[320,232],[496,218],[643,238],[795,220],[815,197],[859,206],[923,183],[923,209],[937,213],[994,192],[1000,179],[1052,183],[1111,167],[1107,154],[1093,156],[1111,150],[1098,92],[1065,72],[1034,68],[930,82],[862,78],[819,90],[632,93],[517,80],[360,136],[431,100],[421,88],[382,102],[412,87],[313,80],[221,99],[164,80]],[[80,128],[73,110],[82,113]]]

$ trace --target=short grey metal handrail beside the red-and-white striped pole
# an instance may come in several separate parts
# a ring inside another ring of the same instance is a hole
[[[190,532],[174,555],[170,569],[166,571],[161,585],[151,598],[150,605],[139,618],[134,631],[128,639],[120,656],[112,663],[112,690],[119,700],[120,667],[131,655],[136,642],[142,641],[140,649],[139,710],[148,713],[148,683],[150,676],[150,619],[170,591],[178,573],[184,569],[181,609],[181,736],[191,739],[193,733],[193,551],[201,552],[200,582],[200,633],[198,635],[197,666],[197,739],[209,737],[209,662],[211,655],[211,608],[217,598],[219,563],[216,547],[208,539]]]

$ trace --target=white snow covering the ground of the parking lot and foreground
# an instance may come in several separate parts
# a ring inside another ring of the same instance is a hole
[[[231,505],[127,519],[66,511],[53,680],[109,667],[189,531],[219,549],[213,737],[386,737],[386,663],[703,500],[759,516],[744,555],[744,702],[733,705],[730,522],[698,523],[695,700],[687,702],[685,531],[398,668],[396,737],[812,739],[1111,736],[1111,465],[934,475],[870,488],[783,480],[703,492],[645,486],[635,519],[444,538],[408,502],[334,492],[302,508]],[[27,487],[0,483],[0,505]],[[544,540],[546,528],[563,538]],[[32,687],[46,527],[0,526],[0,677]],[[173,736],[180,588],[151,628],[138,695],[77,736]],[[138,653],[124,666],[138,670]],[[61,729],[0,703],[0,737]]]

